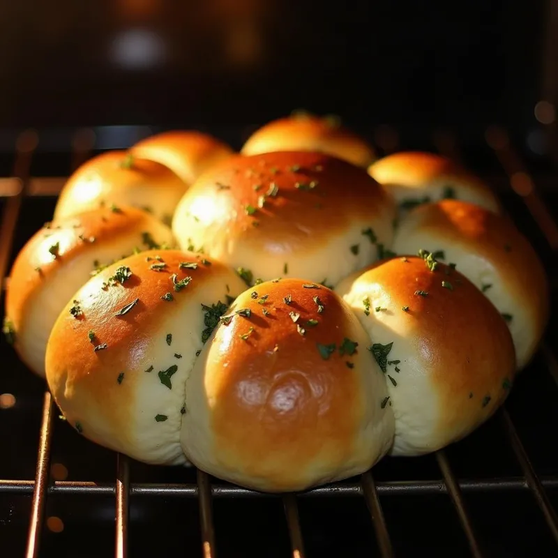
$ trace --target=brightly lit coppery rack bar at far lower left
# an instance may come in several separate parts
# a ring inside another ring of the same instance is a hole
[[[45,503],[47,500],[47,486],[50,472],[50,442],[52,440],[52,417],[54,405],[49,392],[43,400],[43,418],[40,425],[39,449],[37,469],[31,504],[31,519],[29,521],[29,536],[27,537],[27,558],[36,558],[39,552],[40,535],[43,531],[45,517]]]

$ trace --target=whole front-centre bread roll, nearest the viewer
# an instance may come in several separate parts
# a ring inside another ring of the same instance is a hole
[[[282,279],[243,292],[186,381],[184,452],[210,474],[266,492],[366,471],[393,439],[368,341],[324,287]]]

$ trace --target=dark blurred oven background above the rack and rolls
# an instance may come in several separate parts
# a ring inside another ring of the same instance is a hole
[[[1,0],[0,127],[257,126],[304,107],[525,135],[550,0]],[[222,134],[223,135],[223,134]]]

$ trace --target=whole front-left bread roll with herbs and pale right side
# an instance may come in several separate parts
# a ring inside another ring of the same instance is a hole
[[[242,289],[222,264],[175,250],[133,255],[91,278],[75,294],[82,313],[70,302],[47,345],[47,381],[68,423],[137,460],[183,463],[186,378],[227,296]]]

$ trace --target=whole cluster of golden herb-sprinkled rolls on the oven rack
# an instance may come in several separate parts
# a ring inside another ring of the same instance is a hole
[[[84,437],[283,492],[466,436],[547,319],[480,179],[296,114],[240,153],[184,131],[89,160],[17,255],[3,331]]]

